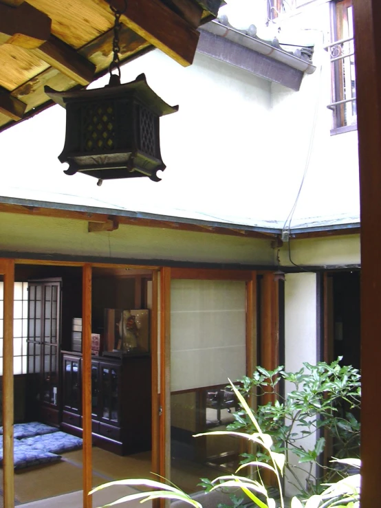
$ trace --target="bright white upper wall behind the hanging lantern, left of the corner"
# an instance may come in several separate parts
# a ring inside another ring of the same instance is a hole
[[[57,157],[65,137],[65,111],[54,106],[1,133],[0,162],[7,170],[1,193],[11,186],[26,187],[60,192],[63,202],[67,195],[83,195],[98,199],[100,206],[114,203],[166,214],[175,214],[175,208],[232,217],[251,217],[256,210],[261,217],[270,214],[271,201],[261,191],[271,181],[268,145],[263,143],[270,128],[270,82],[202,54],[184,68],[159,50],[124,65],[122,82],[142,72],[168,104],[179,104],[177,113],[161,119],[167,168],[160,183],[141,178],[97,187],[91,177],[64,175],[66,166]],[[107,81],[102,78],[90,87]],[[267,135],[266,140],[270,142]]]

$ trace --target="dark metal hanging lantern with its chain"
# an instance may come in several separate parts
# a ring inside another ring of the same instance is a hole
[[[166,168],[160,153],[160,116],[177,111],[147,85],[144,74],[120,84],[118,33],[120,12],[115,11],[113,61],[110,82],[104,88],[45,93],[66,109],[66,138],[61,162],[67,175],[85,173],[103,180],[149,177]],[[113,74],[113,69],[118,71]]]

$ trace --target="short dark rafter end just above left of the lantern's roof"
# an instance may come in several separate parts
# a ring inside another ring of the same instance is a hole
[[[53,35],[33,53],[80,85],[89,85],[94,79],[96,66]]]

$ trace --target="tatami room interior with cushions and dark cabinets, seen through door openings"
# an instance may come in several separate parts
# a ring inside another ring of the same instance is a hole
[[[15,269],[15,504],[83,489],[82,272],[80,266],[59,265]],[[147,477],[152,470],[152,272],[94,268],[91,283],[91,465],[96,486]],[[2,279],[0,312],[2,375]]]

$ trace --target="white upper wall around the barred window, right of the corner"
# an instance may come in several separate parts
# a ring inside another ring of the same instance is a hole
[[[331,102],[331,64],[329,52],[323,49],[331,41],[329,4],[316,0],[279,21],[281,41],[315,43],[316,71],[303,78],[300,91],[272,84],[277,146],[273,165],[283,173],[277,180],[276,197],[283,202],[284,220],[306,171],[292,217],[294,224],[309,217],[358,217],[360,210],[357,131],[330,133],[332,113],[327,104]]]

